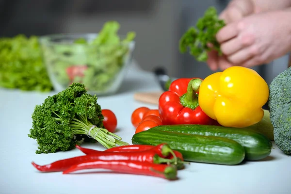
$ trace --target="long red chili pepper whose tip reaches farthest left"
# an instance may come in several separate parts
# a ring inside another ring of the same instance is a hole
[[[90,154],[85,156],[78,156],[69,159],[64,159],[60,161],[56,161],[47,165],[38,165],[32,162],[32,165],[43,172],[56,172],[56,171],[64,171],[71,165],[85,162],[88,160],[104,160],[104,161],[139,161],[139,162],[150,162],[150,163],[164,163],[164,162],[173,162],[168,159],[161,158],[157,155],[154,150],[146,150],[142,152],[102,152],[96,154]],[[176,160],[174,160],[175,164],[178,164]]]

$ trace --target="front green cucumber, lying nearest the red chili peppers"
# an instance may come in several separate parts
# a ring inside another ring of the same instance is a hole
[[[185,161],[236,165],[244,160],[242,145],[231,139],[159,130],[146,130],[133,135],[132,144],[156,146],[167,143],[181,152]]]

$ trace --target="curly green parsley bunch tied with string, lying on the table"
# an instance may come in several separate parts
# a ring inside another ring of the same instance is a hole
[[[73,83],[35,106],[28,136],[38,143],[37,154],[67,151],[83,141],[99,142],[107,148],[128,145],[102,128],[104,117],[97,96],[86,92],[85,85]]]

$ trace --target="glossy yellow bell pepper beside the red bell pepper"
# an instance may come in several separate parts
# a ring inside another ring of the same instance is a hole
[[[198,102],[220,125],[242,128],[263,118],[262,106],[268,98],[268,84],[255,70],[232,66],[202,81]]]

